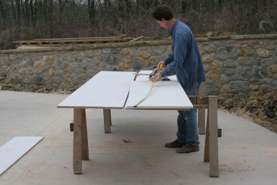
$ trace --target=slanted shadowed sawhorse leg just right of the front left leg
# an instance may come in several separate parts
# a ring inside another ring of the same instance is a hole
[[[89,160],[89,144],[87,141],[86,109],[82,109],[82,160]]]

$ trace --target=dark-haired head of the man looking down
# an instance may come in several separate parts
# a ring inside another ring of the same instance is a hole
[[[173,23],[175,21],[172,11],[165,5],[158,6],[154,12],[152,12],[152,17],[157,20],[157,23],[161,27],[166,29],[172,26],[172,21]]]

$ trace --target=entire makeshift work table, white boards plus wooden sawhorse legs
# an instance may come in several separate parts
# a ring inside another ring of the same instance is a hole
[[[143,71],[145,72],[145,71]],[[152,82],[148,76],[134,72],[100,71],[82,87],[62,101],[58,108],[73,108],[73,172],[82,173],[82,160],[89,159],[85,109],[103,109],[105,132],[111,132],[111,109],[208,109],[204,161],[210,161],[210,177],[219,176],[217,143],[217,96],[188,97],[176,77],[156,82],[140,105],[134,107],[148,93]],[[170,96],[168,96],[170,94]],[[173,96],[172,96],[173,95]],[[166,98],[166,100],[164,99]]]

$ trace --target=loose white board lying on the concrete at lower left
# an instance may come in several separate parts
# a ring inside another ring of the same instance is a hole
[[[32,149],[43,136],[15,136],[0,148],[0,176]]]

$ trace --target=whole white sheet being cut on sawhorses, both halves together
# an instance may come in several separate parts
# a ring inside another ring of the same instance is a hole
[[[150,74],[152,71],[140,71]],[[100,71],[62,101],[58,108],[134,109],[148,94],[152,82],[148,75],[134,72]],[[156,82],[150,95],[136,109],[191,109],[193,105],[176,76]],[[129,96],[128,96],[129,93]],[[127,99],[127,101],[126,101]],[[126,102],[126,104],[125,104]],[[125,106],[124,106],[125,104]]]

